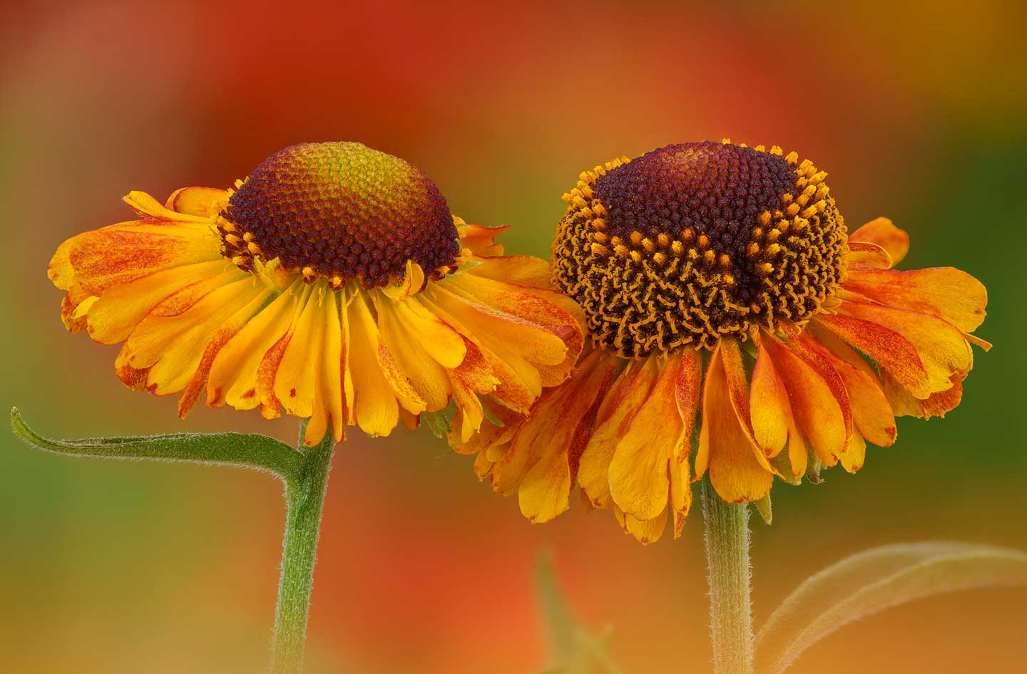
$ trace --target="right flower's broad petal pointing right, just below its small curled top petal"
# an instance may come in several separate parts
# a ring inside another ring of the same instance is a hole
[[[887,307],[941,318],[963,332],[980,327],[987,313],[984,284],[952,267],[852,272],[844,287]]]

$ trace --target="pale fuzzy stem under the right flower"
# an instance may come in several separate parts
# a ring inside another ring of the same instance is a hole
[[[724,503],[707,477],[702,480],[702,517],[710,569],[714,674],[752,674],[748,504]]]

